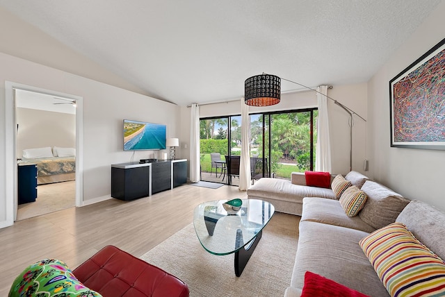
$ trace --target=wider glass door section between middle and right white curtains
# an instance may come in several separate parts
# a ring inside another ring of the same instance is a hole
[[[259,157],[252,180],[269,176],[290,180],[292,172],[313,170],[317,117],[316,108],[251,114],[251,155]]]

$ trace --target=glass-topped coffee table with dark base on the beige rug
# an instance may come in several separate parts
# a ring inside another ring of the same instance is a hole
[[[227,200],[208,201],[195,207],[193,225],[202,247],[213,255],[235,253],[235,275],[245,265],[261,239],[263,228],[275,212],[272,204],[257,199],[242,200],[241,210],[228,214]]]

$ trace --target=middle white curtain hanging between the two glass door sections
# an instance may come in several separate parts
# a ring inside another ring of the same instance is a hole
[[[250,187],[250,116],[249,105],[241,99],[241,158],[239,164],[238,189],[246,191]]]

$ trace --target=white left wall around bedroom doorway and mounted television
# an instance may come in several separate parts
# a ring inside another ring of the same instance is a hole
[[[111,164],[129,162],[132,152],[124,152],[123,119],[167,125],[167,137],[177,135],[180,108],[172,103],[99,83],[51,67],[0,53],[0,114],[6,110],[5,81],[83,97],[83,202],[109,198]],[[0,121],[0,164],[6,160],[6,123]],[[3,140],[4,139],[4,140]],[[152,151],[138,151],[134,160],[152,157]],[[180,153],[180,150],[179,150]],[[5,226],[6,209],[12,196],[6,196],[6,183],[12,173],[0,167],[0,227]]]

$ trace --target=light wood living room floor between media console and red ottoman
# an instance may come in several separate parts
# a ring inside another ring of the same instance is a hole
[[[56,258],[74,269],[107,244],[140,257],[191,223],[197,204],[232,198],[247,195],[227,185],[182,185],[135,201],[112,198],[17,221],[0,229],[0,296],[35,261]]]

